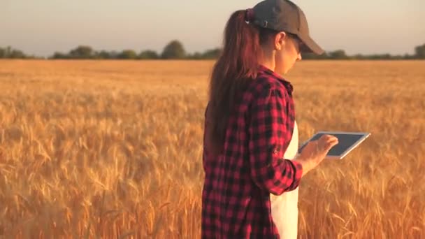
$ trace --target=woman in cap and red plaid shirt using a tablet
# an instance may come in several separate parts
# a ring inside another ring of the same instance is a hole
[[[338,143],[323,136],[294,159],[293,87],[281,75],[301,52],[323,50],[291,1],[261,1],[227,22],[206,108],[202,238],[296,238],[290,191]]]

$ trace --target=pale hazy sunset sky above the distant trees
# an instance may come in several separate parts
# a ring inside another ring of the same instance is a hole
[[[78,45],[156,50],[178,40],[187,52],[222,45],[233,11],[252,0],[0,0],[0,47],[48,57]],[[424,0],[294,0],[324,50],[412,54],[425,43]]]

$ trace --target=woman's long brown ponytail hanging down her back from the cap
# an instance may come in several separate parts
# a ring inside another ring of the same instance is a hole
[[[257,77],[261,44],[275,31],[248,24],[247,11],[238,10],[224,29],[222,55],[212,69],[206,140],[218,153],[224,143],[229,115],[247,82]]]

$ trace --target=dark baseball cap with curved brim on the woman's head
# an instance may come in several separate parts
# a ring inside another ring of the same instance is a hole
[[[313,52],[317,55],[324,53],[324,50],[310,37],[307,18],[295,3],[287,0],[265,0],[252,10],[254,12],[252,23],[298,36],[303,42],[301,52]]]

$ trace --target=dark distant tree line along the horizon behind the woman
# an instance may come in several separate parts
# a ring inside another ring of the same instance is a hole
[[[195,52],[189,54],[186,52],[180,41],[171,41],[161,53],[154,50],[135,50],[127,49],[121,52],[94,50],[88,45],[79,45],[68,53],[55,52],[49,59],[217,59],[221,54],[220,48],[206,50],[205,52]],[[0,59],[34,59],[42,58],[25,55],[24,52],[10,47],[0,48]],[[303,54],[303,59],[425,59],[425,44],[415,47],[414,55],[347,55],[344,50],[334,50],[325,52],[323,55]]]

